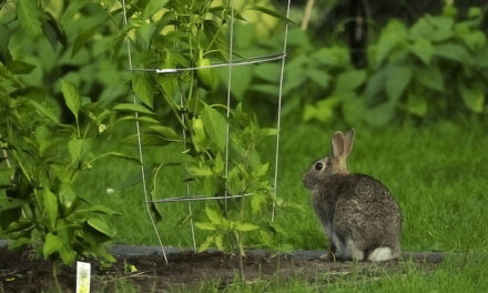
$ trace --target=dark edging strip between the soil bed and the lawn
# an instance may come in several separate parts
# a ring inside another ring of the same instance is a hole
[[[0,247],[8,246],[8,240],[0,240]],[[183,252],[191,252],[190,249],[180,249],[180,247],[164,247],[166,255],[175,255]],[[160,246],[146,246],[146,245],[123,245],[115,244],[111,249],[112,253],[118,256],[141,256],[141,255],[162,255]],[[215,252],[215,250],[210,250],[210,252]],[[265,250],[248,250],[247,254],[253,256],[266,256],[270,255],[268,251]],[[295,259],[299,260],[319,260],[321,255],[324,254],[324,251],[314,251],[314,250],[295,250],[292,252],[279,252],[281,255],[291,255]],[[401,253],[401,259],[409,260],[414,259],[416,261],[429,261],[434,263],[439,263],[444,260],[444,252],[404,252]]]

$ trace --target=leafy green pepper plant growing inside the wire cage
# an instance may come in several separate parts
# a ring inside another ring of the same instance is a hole
[[[230,1],[155,3],[149,1],[129,9],[125,30],[135,49],[131,55],[133,67],[197,69],[171,74],[133,72],[133,91],[143,105],[115,107],[119,111],[138,112],[138,120],[143,123],[142,145],[159,148],[159,160],[148,163],[153,176],[151,199],[162,198],[160,172],[174,165],[184,168],[187,172],[181,183],[190,184],[194,193],[228,195],[217,200],[216,205],[209,203],[195,212],[196,228],[207,234],[199,251],[215,245],[238,251],[242,256],[244,239],[251,233],[271,246],[271,232],[276,230],[268,222],[275,199],[268,181],[270,163],[262,162],[258,145],[276,135],[277,130],[261,128],[242,103],[234,108],[221,104],[223,99],[218,97],[225,93],[218,89],[215,69],[199,69],[230,59],[228,23],[232,18],[236,22],[243,20],[241,11],[232,10]],[[267,8],[252,9],[284,19]],[[124,141],[138,143],[138,139],[134,134]],[[161,205],[151,203],[151,211],[154,219],[162,219]],[[186,215],[179,222],[190,219]]]

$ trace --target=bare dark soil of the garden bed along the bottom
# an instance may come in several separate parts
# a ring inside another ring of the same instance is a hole
[[[31,253],[12,252],[0,247],[0,293],[1,292],[74,292],[75,266],[61,266],[57,280],[53,262],[32,260]],[[413,255],[417,265],[433,269],[441,261],[440,255]],[[214,281],[224,289],[240,275],[238,256],[218,252],[194,254],[183,252],[169,256],[166,265],[161,255],[119,256],[116,263],[102,270],[92,263],[92,292],[118,291],[121,284],[131,284],[141,292],[166,292],[173,289],[199,290],[203,281]],[[304,277],[318,280],[321,275],[343,277],[352,271],[375,276],[386,272],[399,272],[401,261],[383,263],[325,262],[306,260],[291,255],[264,256],[250,253],[244,259],[246,280],[279,277]],[[130,265],[136,272],[130,272]],[[59,287],[59,290],[58,290]]]

